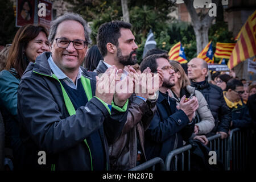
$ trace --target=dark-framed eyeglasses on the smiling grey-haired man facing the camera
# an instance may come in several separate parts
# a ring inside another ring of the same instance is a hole
[[[57,46],[60,48],[67,48],[69,44],[72,42],[75,49],[84,49],[85,46],[88,46],[88,42],[85,40],[68,40],[67,38],[57,38],[55,39],[57,42]]]

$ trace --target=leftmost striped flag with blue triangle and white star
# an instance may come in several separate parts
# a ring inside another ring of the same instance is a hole
[[[188,63],[181,42],[178,42],[174,46],[172,46],[168,55],[170,60],[178,61],[179,63]]]

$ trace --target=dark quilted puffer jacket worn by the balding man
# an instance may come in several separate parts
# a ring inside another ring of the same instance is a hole
[[[204,98],[210,107],[210,111],[212,111],[215,120],[215,127],[213,128],[212,133],[215,134],[217,131],[223,131],[228,134],[232,116],[230,109],[224,100],[221,88],[210,84],[207,79],[205,79],[205,84],[203,85],[191,81],[191,86],[203,93]]]

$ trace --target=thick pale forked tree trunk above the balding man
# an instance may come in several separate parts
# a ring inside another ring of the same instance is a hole
[[[209,16],[208,11],[206,11],[205,8],[201,9],[201,11],[197,13],[195,7],[193,6],[192,0],[183,1],[187,6],[187,10],[191,16],[193,30],[195,31],[196,35],[196,52],[198,55],[209,42],[208,31],[215,17]],[[212,2],[215,3],[218,7],[220,0],[212,0]]]

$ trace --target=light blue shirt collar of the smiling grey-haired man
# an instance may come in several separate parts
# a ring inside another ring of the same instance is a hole
[[[63,80],[65,82],[65,84],[70,86],[72,89],[76,89],[77,84],[75,84],[71,78],[69,78],[67,75],[65,75],[65,73],[63,73],[63,71],[61,71],[61,69],[59,67],[57,67],[57,65],[54,63],[54,61],[52,59],[52,55],[49,57],[48,63],[52,69],[52,72],[54,73],[54,75],[56,75],[56,77],[59,80]],[[77,83],[77,80],[79,78],[81,78],[81,76],[82,76],[82,69],[79,68],[79,72],[76,77],[76,83]]]

